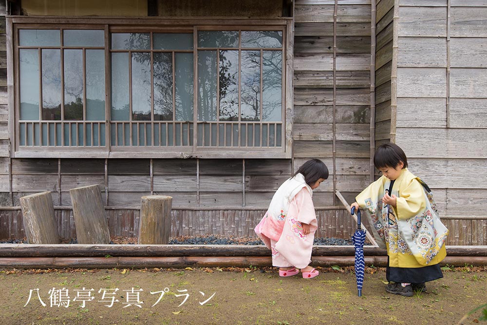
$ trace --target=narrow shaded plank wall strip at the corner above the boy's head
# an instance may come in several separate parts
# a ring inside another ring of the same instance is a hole
[[[375,144],[391,141],[394,0],[378,0],[375,16]]]

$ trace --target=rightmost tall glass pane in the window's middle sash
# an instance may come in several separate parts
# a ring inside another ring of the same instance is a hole
[[[176,121],[193,120],[193,54],[176,53]]]

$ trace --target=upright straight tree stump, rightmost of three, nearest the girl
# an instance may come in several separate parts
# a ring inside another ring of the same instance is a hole
[[[168,244],[171,235],[172,197],[149,195],[140,198],[138,244]]]

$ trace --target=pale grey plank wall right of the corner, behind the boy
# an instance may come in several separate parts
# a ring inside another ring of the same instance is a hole
[[[487,2],[400,0],[397,9],[396,143],[443,216],[486,216]],[[455,234],[477,228],[449,224]]]

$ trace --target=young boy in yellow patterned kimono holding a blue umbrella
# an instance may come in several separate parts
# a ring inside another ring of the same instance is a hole
[[[379,146],[374,165],[382,176],[351,207],[365,212],[379,246],[387,249],[386,291],[411,297],[426,291],[425,282],[443,277],[438,265],[445,256],[448,229],[441,223],[431,190],[408,170],[396,144]]]

